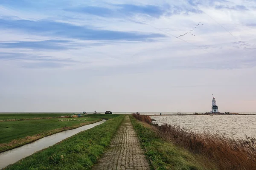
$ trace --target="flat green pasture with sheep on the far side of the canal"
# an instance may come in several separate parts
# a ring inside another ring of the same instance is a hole
[[[72,119],[72,118],[64,118]],[[76,118],[86,121],[65,121],[58,119],[35,119],[29,121],[0,122],[0,152],[28,144],[45,136],[64,130],[70,130],[83,125],[98,122],[98,118]]]

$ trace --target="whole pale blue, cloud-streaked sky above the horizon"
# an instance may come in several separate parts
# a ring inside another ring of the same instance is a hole
[[[255,0],[1,0],[0,112],[199,112],[212,94],[256,111],[255,16]]]

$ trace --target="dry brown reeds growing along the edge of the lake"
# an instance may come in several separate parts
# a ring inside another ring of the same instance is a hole
[[[151,122],[149,116],[135,116],[144,122]],[[172,125],[149,125],[158,139],[181,147],[208,166],[212,162],[219,170],[256,170],[256,139],[231,139],[209,132],[194,133]],[[149,144],[150,145],[150,144]],[[168,162],[169,154],[163,150]],[[167,159],[168,158],[168,159]],[[214,168],[214,167],[212,167]],[[209,169],[209,168],[206,168]]]

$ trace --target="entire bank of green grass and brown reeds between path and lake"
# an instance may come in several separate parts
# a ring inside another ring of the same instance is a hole
[[[134,114],[131,117],[142,137],[143,146],[147,148],[146,155],[149,159],[157,158],[152,159],[156,169],[173,169],[173,163],[191,166],[191,163],[184,162],[193,158],[195,160],[192,163],[196,163],[197,169],[256,169],[256,138],[233,139],[207,132],[196,133],[173,125],[153,124],[150,116]],[[185,151],[186,156],[183,157],[184,152],[177,152],[178,149]],[[190,159],[187,159],[188,155],[191,156]],[[180,157],[183,157],[182,161],[178,160]]]

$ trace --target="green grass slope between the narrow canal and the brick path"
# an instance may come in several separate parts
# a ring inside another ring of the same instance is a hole
[[[88,170],[102,155],[124,115],[77,133],[58,144],[34,153],[4,170]]]

